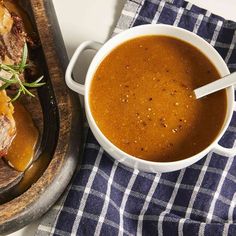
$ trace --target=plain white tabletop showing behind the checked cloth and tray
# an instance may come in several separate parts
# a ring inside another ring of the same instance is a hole
[[[53,0],[63,39],[69,56],[84,40],[105,42],[119,18],[125,0]],[[236,21],[235,0],[189,0],[200,7]],[[80,62],[83,77],[90,56],[85,56]],[[10,234],[10,236],[34,235],[40,220]]]

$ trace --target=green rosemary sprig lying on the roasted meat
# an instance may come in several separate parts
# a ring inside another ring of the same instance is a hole
[[[25,43],[22,53],[22,58],[19,64],[17,65],[7,65],[7,64],[0,64],[0,71],[6,71],[8,72],[8,77],[10,78],[3,78],[0,76],[0,81],[3,82],[3,84],[0,86],[0,90],[6,89],[11,85],[17,85],[18,91],[16,92],[15,96],[11,99],[11,102],[14,102],[17,100],[21,94],[27,94],[29,96],[35,97],[34,94],[32,94],[28,88],[37,88],[45,83],[42,83],[43,76],[35,80],[34,82],[28,83],[21,81],[20,76],[24,73],[24,70],[28,67],[27,63],[28,58],[28,48]]]

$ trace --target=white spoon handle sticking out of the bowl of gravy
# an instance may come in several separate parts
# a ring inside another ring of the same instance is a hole
[[[236,72],[194,90],[196,99],[236,84]]]

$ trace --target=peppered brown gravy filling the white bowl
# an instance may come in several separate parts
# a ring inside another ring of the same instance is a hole
[[[89,102],[104,135],[150,161],[175,161],[206,148],[220,131],[226,92],[196,100],[193,90],[219,79],[209,59],[186,42],[145,36],[123,43],[98,67]]]

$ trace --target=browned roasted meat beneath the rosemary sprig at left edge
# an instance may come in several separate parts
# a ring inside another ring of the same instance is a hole
[[[17,64],[22,57],[23,46],[26,41],[23,22],[20,17],[10,13],[0,2],[0,63]],[[1,77],[9,77],[5,71],[0,71]],[[0,83],[1,85],[1,83]],[[0,157],[7,154],[16,134],[13,118],[13,105],[9,102],[5,90],[0,91]]]

